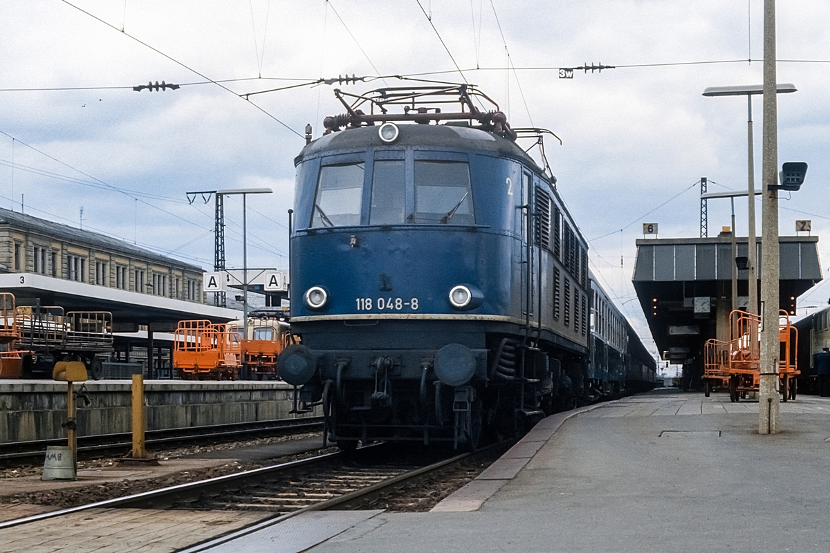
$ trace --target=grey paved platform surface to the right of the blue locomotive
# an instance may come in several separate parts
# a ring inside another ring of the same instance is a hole
[[[433,512],[308,513],[186,551],[830,551],[830,400],[782,404],[774,435],[757,434],[757,409],[655,390],[574,416],[549,439],[555,424],[543,421],[511,461],[524,466],[510,477],[503,464],[486,497],[470,492],[487,488],[480,478]]]

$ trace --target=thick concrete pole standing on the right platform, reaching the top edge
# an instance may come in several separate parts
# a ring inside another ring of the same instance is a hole
[[[778,236],[778,115],[775,71],[775,0],[764,0],[764,161],[761,172],[761,332],[758,433],[779,431],[779,236]],[[772,188],[770,190],[770,188]]]

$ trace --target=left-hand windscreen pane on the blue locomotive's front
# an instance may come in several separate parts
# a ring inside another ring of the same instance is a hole
[[[360,224],[364,163],[320,167],[311,227]]]

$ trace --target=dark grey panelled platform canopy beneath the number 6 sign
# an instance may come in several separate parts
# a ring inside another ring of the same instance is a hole
[[[728,339],[732,308],[731,235],[712,238],[637,240],[633,284],[666,361],[698,364],[709,338]],[[736,257],[745,257],[747,238],[736,239]],[[758,282],[764,270],[758,245]],[[796,313],[796,298],[822,279],[818,236],[779,238],[779,308]],[[748,271],[738,270],[738,306],[749,296]],[[759,293],[760,297],[760,293]]]

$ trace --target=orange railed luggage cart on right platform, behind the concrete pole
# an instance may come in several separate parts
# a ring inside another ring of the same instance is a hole
[[[730,341],[711,339],[706,342],[704,386],[706,396],[714,386],[727,384],[730,400],[735,402],[748,392],[757,392],[760,385],[761,318],[754,313],[735,310],[730,313]],[[779,391],[782,400],[794,400],[797,394],[796,368],[798,330],[789,321],[789,314],[779,312]]]

